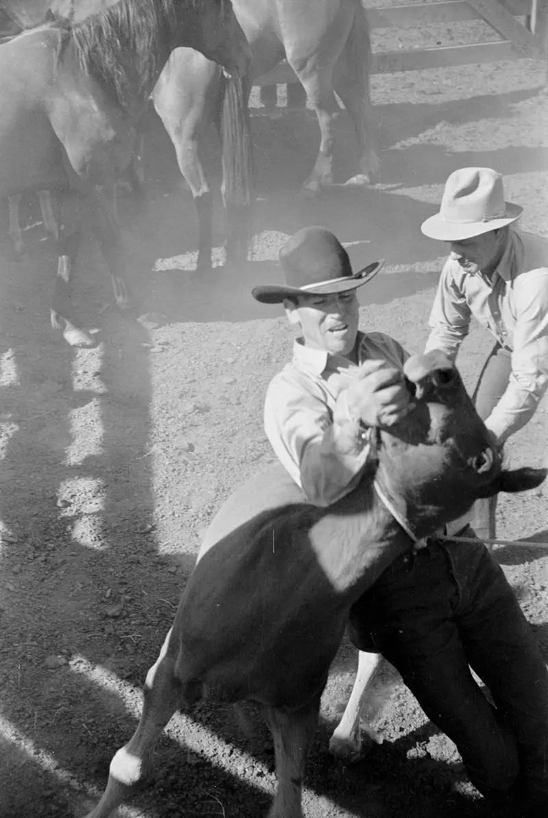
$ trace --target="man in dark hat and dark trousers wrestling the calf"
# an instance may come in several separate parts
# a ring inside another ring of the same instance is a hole
[[[382,262],[352,272],[346,250],[322,227],[298,231],[279,258],[284,283],[256,287],[253,295],[283,303],[302,337],[269,384],[265,431],[308,500],[328,506],[362,478],[368,428],[408,411],[407,353],[388,335],[358,331],[356,291]],[[473,537],[469,527],[460,533]],[[431,542],[414,560],[396,558],[352,607],[349,635],[361,651],[362,675],[374,672],[379,651],[401,672],[424,712],[455,741],[480,792],[497,804],[515,794],[512,815],[546,814],[548,674],[514,592],[482,542]],[[487,683],[504,719],[469,671],[469,663],[485,666],[478,654],[488,657]],[[527,800],[531,812],[522,809]]]

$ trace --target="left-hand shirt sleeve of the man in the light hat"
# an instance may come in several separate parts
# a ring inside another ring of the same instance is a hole
[[[449,258],[437,285],[428,320],[431,331],[424,348],[425,353],[441,349],[451,361],[455,361],[460,344],[468,335],[472,317],[466,297],[460,288],[458,275],[455,274],[455,262]]]

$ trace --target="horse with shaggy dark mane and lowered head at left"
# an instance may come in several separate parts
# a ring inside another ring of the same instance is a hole
[[[90,207],[116,304],[134,313],[115,182],[129,165],[152,88],[170,53],[183,46],[219,61],[232,76],[227,97],[241,106],[251,55],[230,0],[116,0],[77,23],[48,21],[0,47],[0,197],[44,189],[61,197],[51,317],[71,345],[93,344],[69,303],[80,200]]]

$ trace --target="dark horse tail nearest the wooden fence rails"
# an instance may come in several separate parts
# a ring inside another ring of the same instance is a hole
[[[354,21],[344,50],[346,77],[342,77],[340,96],[345,106],[349,108],[354,121],[362,157],[367,157],[366,164],[369,164],[371,175],[375,176],[378,170],[378,159],[375,153],[377,128],[369,91],[369,78],[373,65],[371,38],[363,0],[355,0],[354,7]],[[359,105],[356,105],[356,102],[351,104],[351,100],[348,101],[348,105],[346,104],[343,98],[345,85],[357,89],[360,97]]]

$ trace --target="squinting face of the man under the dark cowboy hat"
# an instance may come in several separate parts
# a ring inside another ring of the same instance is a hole
[[[297,305],[283,302],[289,321],[301,326],[307,347],[323,349],[331,355],[349,356],[358,334],[356,290],[332,295],[300,295]]]

